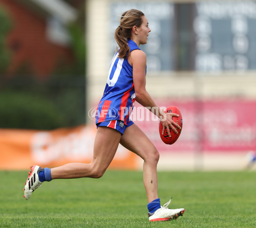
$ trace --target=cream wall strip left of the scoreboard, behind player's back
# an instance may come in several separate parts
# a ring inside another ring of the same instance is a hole
[[[86,51],[87,51],[87,104],[99,102],[108,76],[110,61],[109,45],[109,1],[87,0],[86,5]]]

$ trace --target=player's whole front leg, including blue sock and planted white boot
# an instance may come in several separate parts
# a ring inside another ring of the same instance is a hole
[[[160,199],[157,193],[157,162],[159,160],[159,153],[143,131],[136,124],[131,125],[126,128],[120,143],[144,160],[143,182],[149,203],[149,221],[166,221],[182,216],[185,211],[184,208],[167,208],[171,200],[163,205],[163,207],[160,206]],[[152,205],[153,208],[151,208]]]

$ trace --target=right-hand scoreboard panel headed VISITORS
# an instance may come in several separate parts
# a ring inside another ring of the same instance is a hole
[[[195,69],[256,69],[256,2],[195,3]]]

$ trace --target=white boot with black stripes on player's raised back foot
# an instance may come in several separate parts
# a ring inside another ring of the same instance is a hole
[[[23,189],[23,191],[24,191],[23,197],[26,200],[28,200],[30,198],[32,192],[35,189],[39,188],[42,185],[42,182],[39,180],[38,173],[39,173],[39,171],[44,170],[41,167],[39,167],[38,165],[31,166],[30,169],[31,169],[31,171],[29,172],[29,177],[28,177],[26,183],[24,183],[25,187]]]

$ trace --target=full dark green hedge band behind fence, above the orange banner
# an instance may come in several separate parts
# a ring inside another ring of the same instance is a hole
[[[84,77],[11,78],[0,87],[0,127],[52,130],[85,122]]]

